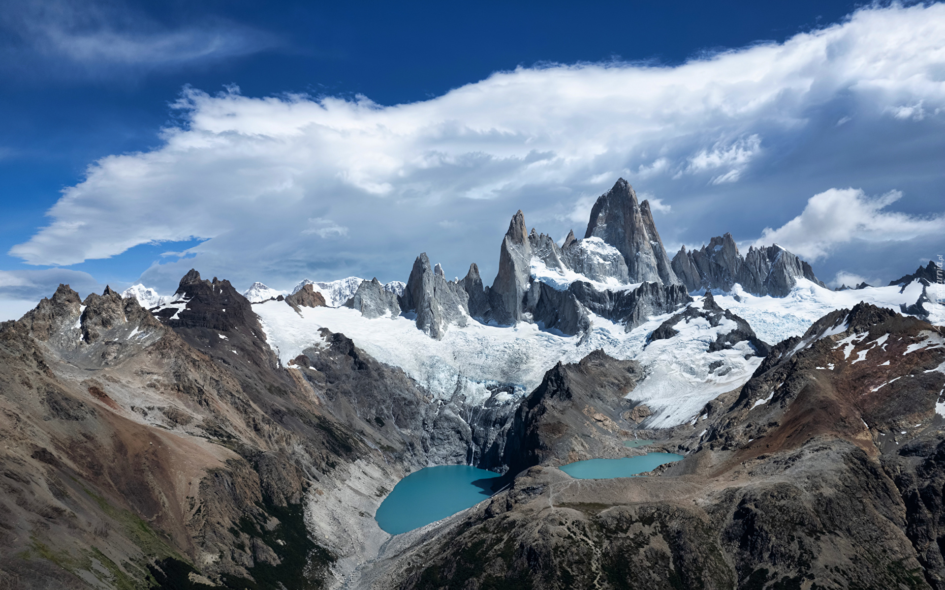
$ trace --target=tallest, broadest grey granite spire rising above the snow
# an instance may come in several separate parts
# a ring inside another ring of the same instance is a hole
[[[631,282],[680,284],[660,234],[653,223],[649,203],[637,202],[637,194],[627,180],[620,178],[597,198],[591,210],[585,238],[596,236],[624,255]]]

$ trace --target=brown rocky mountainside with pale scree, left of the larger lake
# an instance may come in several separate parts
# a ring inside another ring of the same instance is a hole
[[[474,416],[322,336],[280,366],[249,301],[196,271],[151,312],[60,285],[0,325],[0,579],[320,588],[387,538],[361,514],[404,475],[498,463]]]

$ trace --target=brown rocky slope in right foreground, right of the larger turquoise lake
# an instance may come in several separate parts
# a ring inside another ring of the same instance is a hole
[[[573,480],[539,441],[549,459],[363,587],[943,588],[943,369],[935,327],[833,312],[659,441],[686,455],[661,477]]]

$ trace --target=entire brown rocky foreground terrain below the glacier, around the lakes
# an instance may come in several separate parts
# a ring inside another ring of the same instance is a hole
[[[945,589],[943,362],[919,319],[833,312],[650,432],[686,455],[659,477],[573,480],[643,452],[637,363],[598,351],[472,409],[328,330],[283,367],[196,271],[153,313],[60,286],[0,325],[0,588]],[[370,515],[431,463],[509,485],[389,539]]]

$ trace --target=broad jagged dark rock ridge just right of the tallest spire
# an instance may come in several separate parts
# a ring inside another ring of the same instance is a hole
[[[699,250],[680,248],[673,258],[673,269],[690,293],[701,289],[730,291],[739,283],[752,295],[783,297],[798,278],[825,286],[814,276],[810,264],[777,244],[751,246],[743,258],[730,233],[713,238]]]

